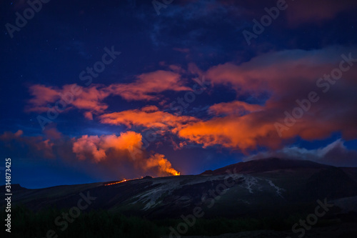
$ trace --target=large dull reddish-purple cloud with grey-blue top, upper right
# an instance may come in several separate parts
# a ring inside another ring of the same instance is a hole
[[[271,52],[240,65],[228,62],[213,66],[206,72],[206,79],[213,85],[231,86],[238,95],[273,91],[280,96],[301,86],[313,87],[319,77],[338,66],[341,54],[350,51],[343,47],[330,47],[316,51]]]

